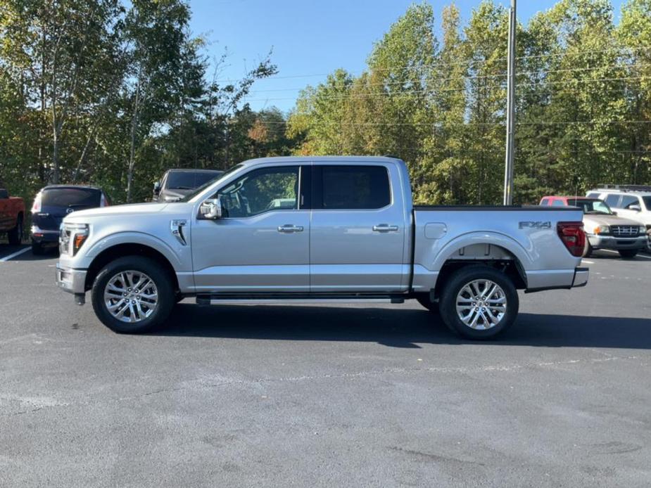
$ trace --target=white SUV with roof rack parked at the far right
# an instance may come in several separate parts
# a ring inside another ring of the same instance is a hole
[[[621,217],[642,222],[647,229],[647,250],[651,251],[651,186],[602,185],[587,193],[600,198]]]

